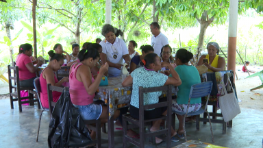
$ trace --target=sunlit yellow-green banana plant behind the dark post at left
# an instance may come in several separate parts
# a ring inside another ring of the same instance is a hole
[[[27,34],[27,37],[28,37],[27,41],[33,43],[34,39],[33,39],[33,27],[32,27],[32,25],[29,25],[25,21],[21,21],[21,23],[30,32]],[[58,26],[53,28],[53,29],[47,30],[47,32],[38,32],[38,30],[36,30],[36,40],[39,43],[38,44],[39,48],[42,49],[42,57],[43,58],[45,58],[45,48],[49,47],[52,43],[52,42],[48,42],[48,40],[55,37],[55,36],[53,36],[53,32],[55,32],[55,29],[57,29],[57,28],[58,28]]]

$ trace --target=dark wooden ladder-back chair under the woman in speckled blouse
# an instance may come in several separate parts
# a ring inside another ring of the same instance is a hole
[[[157,91],[167,91],[167,101],[145,105],[143,101],[144,93],[151,93]],[[137,147],[145,147],[145,136],[155,137],[158,135],[166,134],[166,147],[171,147],[171,108],[172,108],[172,86],[160,86],[153,88],[139,88],[139,112],[144,112],[145,110],[153,108],[167,107],[167,116],[161,116],[158,119],[145,120],[144,114],[139,114],[139,119],[134,119],[129,114],[123,114],[123,147],[127,147],[127,142],[136,145]],[[166,120],[167,125],[164,129],[155,132],[145,132],[146,123],[151,123],[152,121]],[[132,123],[127,125],[127,122]],[[132,127],[139,127],[140,129],[140,140],[136,140],[127,136],[127,130]]]

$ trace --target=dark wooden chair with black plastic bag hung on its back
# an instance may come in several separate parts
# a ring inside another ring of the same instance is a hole
[[[47,84],[47,95],[49,97],[49,110],[50,110],[50,115],[52,114],[53,108],[55,107],[55,102],[53,102],[53,96],[52,96],[52,91],[57,91],[60,93],[63,93],[63,90],[69,91],[68,87],[58,87],[58,86],[51,86],[51,84]],[[90,144],[97,144],[96,147],[100,148],[101,147],[101,119],[98,120],[84,120],[84,123],[86,123],[88,129],[93,130],[96,132],[96,140],[92,140],[92,143]],[[93,125],[96,125],[93,126]]]

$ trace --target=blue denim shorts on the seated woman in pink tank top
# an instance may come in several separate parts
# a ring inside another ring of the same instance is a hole
[[[97,120],[102,113],[102,106],[94,103],[88,104],[87,106],[77,106],[75,104],[73,104],[73,106],[77,108],[77,111],[84,120]]]

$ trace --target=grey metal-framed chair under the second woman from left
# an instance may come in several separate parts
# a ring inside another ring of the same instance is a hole
[[[44,108],[44,107],[42,106],[42,102],[41,102],[41,99],[40,99],[41,86],[40,86],[39,77],[37,77],[36,79],[34,79],[34,86],[35,86],[36,93],[37,93],[37,95],[38,95],[38,101],[39,101],[39,103],[40,103],[40,108],[41,108],[41,113],[40,113],[39,122],[38,122],[38,134],[39,134],[39,129],[40,129],[40,122],[41,122],[42,113],[43,113],[44,111],[49,112],[49,108]],[[38,135],[36,136],[36,142],[38,142]]]

